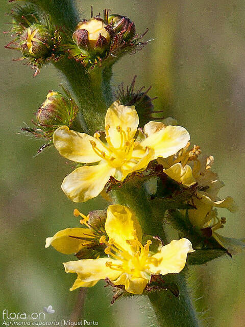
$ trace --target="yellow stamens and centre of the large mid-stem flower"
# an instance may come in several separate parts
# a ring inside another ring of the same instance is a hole
[[[119,168],[124,165],[126,169],[130,169],[132,165],[136,165],[141,159],[141,157],[132,155],[134,147],[138,145],[138,143],[130,136],[131,128],[127,127],[125,131],[120,126],[116,127],[116,131],[120,135],[120,145],[118,148],[115,148],[111,142],[109,129],[110,126],[107,125],[105,128],[107,145],[101,141],[101,134],[99,132],[94,134],[94,137],[99,141],[102,148],[99,148],[94,141],[90,141],[93,151],[114,168]],[[145,152],[146,151],[149,151],[149,148],[146,147]]]

